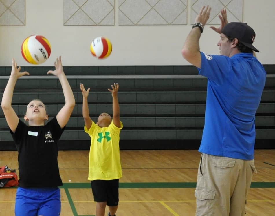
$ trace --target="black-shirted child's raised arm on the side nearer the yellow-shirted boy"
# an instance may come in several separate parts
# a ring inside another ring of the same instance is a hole
[[[56,115],[56,119],[60,128],[64,128],[67,122],[69,121],[71,113],[74,110],[76,101],[74,99],[74,94],[73,94],[73,91],[71,90],[71,86],[67,80],[66,75],[64,74],[62,62],[61,62],[61,56],[59,56],[56,59],[56,62],[54,62],[54,66],[55,66],[55,70],[54,71],[50,70],[47,74],[56,75],[62,86],[63,94],[65,97],[65,105],[61,108],[61,110]]]

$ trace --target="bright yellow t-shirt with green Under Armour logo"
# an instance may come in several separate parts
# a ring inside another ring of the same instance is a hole
[[[113,124],[101,128],[92,122],[88,130],[84,130],[91,137],[91,148],[89,154],[89,176],[88,180],[113,180],[122,177],[119,153],[120,128]]]

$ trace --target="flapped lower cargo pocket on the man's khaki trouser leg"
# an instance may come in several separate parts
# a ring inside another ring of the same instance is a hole
[[[214,216],[214,198],[216,192],[213,190],[206,190],[196,188],[195,197],[197,198],[196,215]]]

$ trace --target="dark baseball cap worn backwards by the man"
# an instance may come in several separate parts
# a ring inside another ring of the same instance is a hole
[[[252,45],[256,34],[253,28],[248,26],[246,23],[240,23],[240,22],[228,23],[223,27],[223,29],[221,30],[221,33],[225,34],[228,37],[234,37],[238,39],[240,43],[254,50],[255,52],[260,52]]]

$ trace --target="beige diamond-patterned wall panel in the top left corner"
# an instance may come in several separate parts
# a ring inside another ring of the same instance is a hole
[[[0,0],[0,26],[25,26],[25,0]]]

